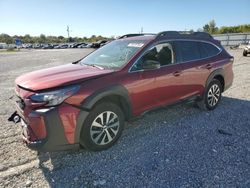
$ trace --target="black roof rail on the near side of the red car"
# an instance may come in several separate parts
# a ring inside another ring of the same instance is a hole
[[[193,36],[195,38],[212,39],[213,37],[206,32],[189,32],[189,31],[163,31],[156,35],[156,39],[168,36],[168,37],[178,37],[178,36]]]

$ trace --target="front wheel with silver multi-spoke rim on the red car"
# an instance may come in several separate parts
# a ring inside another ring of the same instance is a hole
[[[124,115],[114,103],[97,104],[83,123],[80,144],[87,150],[105,150],[115,144],[124,128]]]

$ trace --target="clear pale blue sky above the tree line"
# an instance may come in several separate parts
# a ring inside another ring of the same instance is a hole
[[[250,0],[0,0],[0,33],[119,36],[250,24]]]

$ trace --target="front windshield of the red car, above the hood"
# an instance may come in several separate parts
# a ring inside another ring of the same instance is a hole
[[[115,40],[83,58],[80,64],[104,69],[119,69],[128,63],[145,42],[143,40]]]

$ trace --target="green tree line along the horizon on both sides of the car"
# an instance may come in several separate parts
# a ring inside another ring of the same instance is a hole
[[[193,31],[193,30],[190,30]],[[220,28],[216,27],[214,20],[211,20],[203,26],[203,28],[197,31],[204,31],[210,34],[224,34],[224,33],[243,33],[250,32],[250,24],[238,25],[238,26],[222,26]],[[96,42],[99,40],[113,39],[114,37],[103,37],[92,35],[91,37],[69,37],[65,38],[63,36],[45,36],[41,34],[40,36],[30,36],[29,34],[24,36],[9,36],[8,34],[0,34],[0,42],[13,44],[16,39],[20,39],[23,43],[67,43],[67,42]]]

